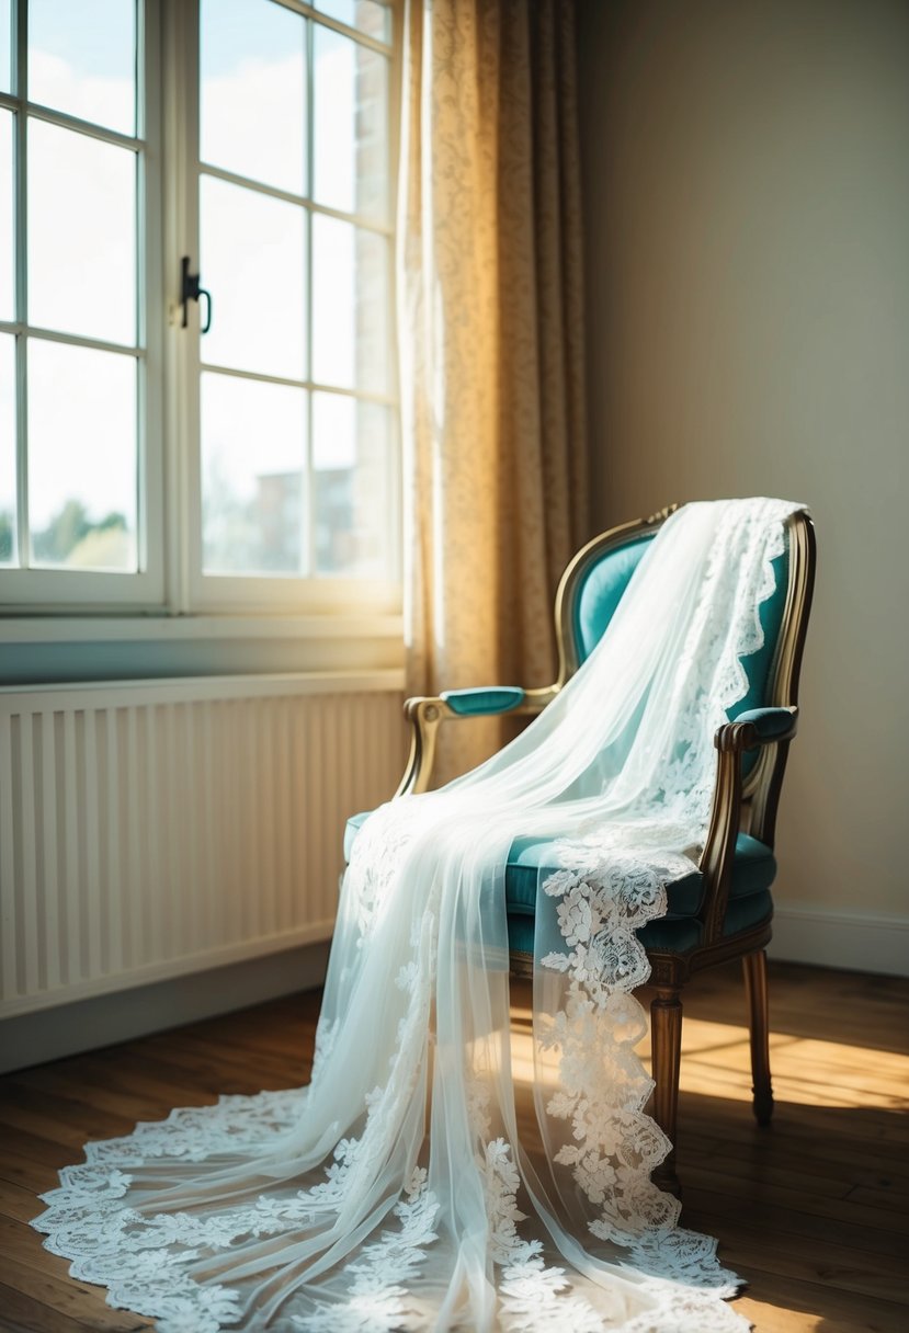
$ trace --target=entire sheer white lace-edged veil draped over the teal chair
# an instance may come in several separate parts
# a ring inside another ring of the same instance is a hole
[[[692,870],[713,732],[797,505],[688,505],[589,661],[492,761],[379,809],[343,892],[308,1088],[87,1146],[35,1225],[163,1333],[746,1329],[652,1169],[636,930]],[[537,890],[534,1132],[518,1134],[504,874]],[[536,1149],[533,1148],[536,1141]]]

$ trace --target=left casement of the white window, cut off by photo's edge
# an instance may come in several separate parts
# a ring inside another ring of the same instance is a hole
[[[160,601],[136,7],[3,0],[0,29],[0,592]]]

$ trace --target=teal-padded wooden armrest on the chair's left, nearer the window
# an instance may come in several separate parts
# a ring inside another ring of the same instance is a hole
[[[441,694],[408,698],[404,704],[404,716],[413,728],[411,754],[395,796],[416,796],[429,786],[436,756],[436,736],[443,722],[468,717],[496,717],[502,713],[532,716],[542,712],[557,693],[557,685],[546,685],[544,689],[490,685],[478,689],[447,689]]]

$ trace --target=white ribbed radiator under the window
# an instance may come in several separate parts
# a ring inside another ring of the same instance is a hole
[[[324,940],[401,673],[0,690],[0,1016]]]

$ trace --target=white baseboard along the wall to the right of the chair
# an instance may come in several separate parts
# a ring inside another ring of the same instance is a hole
[[[909,917],[777,904],[772,958],[909,977]]]

